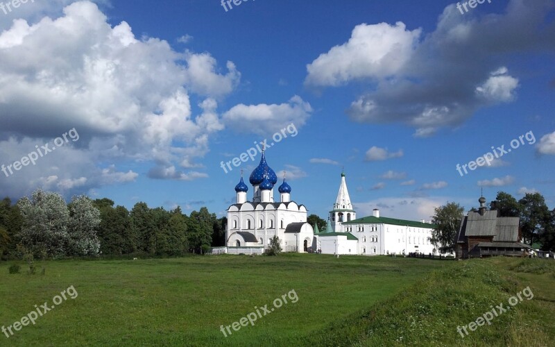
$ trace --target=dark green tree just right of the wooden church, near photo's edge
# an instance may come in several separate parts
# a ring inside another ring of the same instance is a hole
[[[527,193],[518,201],[521,206],[520,227],[522,237],[529,244],[539,241],[540,235],[549,228],[551,213],[540,193]]]

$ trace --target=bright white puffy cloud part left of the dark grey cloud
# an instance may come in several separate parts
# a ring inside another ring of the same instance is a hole
[[[307,65],[307,85],[341,85],[359,78],[398,73],[409,61],[420,29],[407,31],[402,22],[355,26],[350,40],[334,46]]]

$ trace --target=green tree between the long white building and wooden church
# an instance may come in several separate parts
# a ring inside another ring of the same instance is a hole
[[[458,203],[447,203],[447,205],[434,209],[435,215],[432,223],[430,242],[439,249],[441,253],[451,253],[455,250],[455,236],[461,225],[464,208]]]

